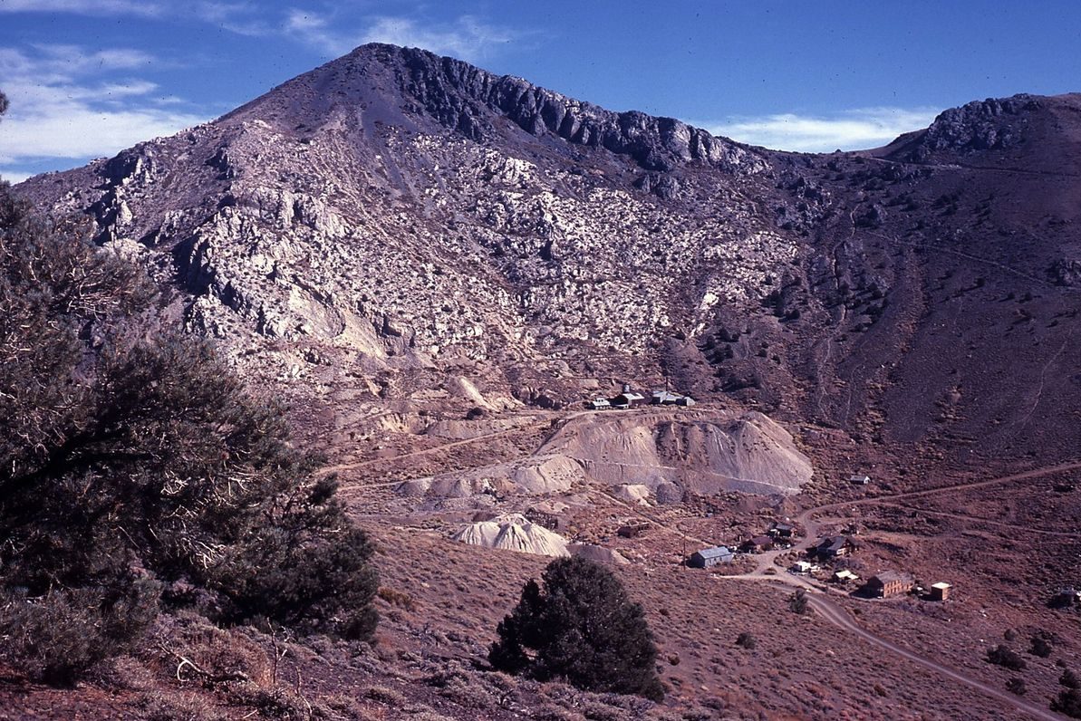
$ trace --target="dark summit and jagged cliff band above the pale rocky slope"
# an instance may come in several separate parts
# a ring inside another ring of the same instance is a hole
[[[326,114],[350,105],[374,120],[433,132],[431,121],[480,143],[513,132],[629,156],[648,171],[700,162],[737,173],[766,168],[764,157],[672,118],[615,112],[515,76],[499,76],[452,57],[385,43],[348,55],[270,91],[227,117]]]

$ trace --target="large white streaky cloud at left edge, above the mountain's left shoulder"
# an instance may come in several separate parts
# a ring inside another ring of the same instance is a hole
[[[39,45],[27,54],[0,48],[0,78],[11,101],[0,123],[0,165],[10,172],[0,174],[11,179],[44,159],[74,164],[204,121],[184,104],[158,97],[152,82],[111,77],[152,61],[126,49]]]

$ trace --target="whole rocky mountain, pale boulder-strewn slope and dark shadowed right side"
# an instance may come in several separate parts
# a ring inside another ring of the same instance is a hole
[[[798,155],[364,45],[21,188],[344,445],[667,377],[882,446],[1062,456],[1079,112],[986,101]]]

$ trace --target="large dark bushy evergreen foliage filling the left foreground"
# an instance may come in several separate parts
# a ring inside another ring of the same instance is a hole
[[[150,284],[0,184],[0,655],[70,682],[159,607],[371,637],[333,478]]]

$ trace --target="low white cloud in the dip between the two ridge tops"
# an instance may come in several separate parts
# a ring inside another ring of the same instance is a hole
[[[926,128],[937,108],[858,108],[830,116],[786,112],[762,117],[697,122],[713,135],[775,150],[830,152],[885,145],[902,133]]]

